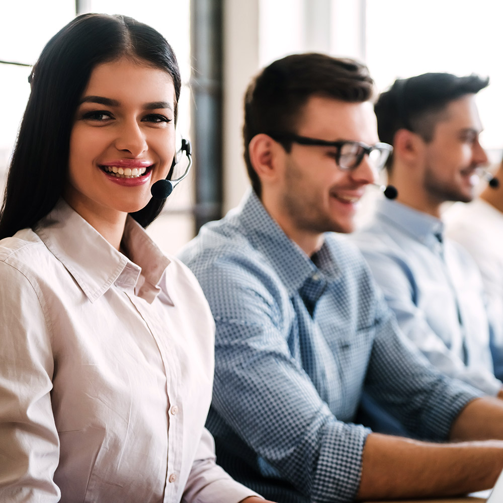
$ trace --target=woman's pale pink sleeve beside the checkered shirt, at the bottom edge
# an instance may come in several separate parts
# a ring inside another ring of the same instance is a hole
[[[256,492],[233,480],[220,466],[215,464],[215,444],[208,430],[204,429],[185,486],[182,503],[238,503]]]

